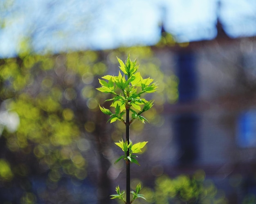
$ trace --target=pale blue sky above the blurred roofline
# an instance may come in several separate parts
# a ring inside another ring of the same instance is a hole
[[[230,37],[256,35],[255,0],[221,0],[220,10],[217,0],[1,2],[0,57],[16,55],[25,38],[41,53],[154,45],[161,22],[178,42],[213,39],[217,13]]]

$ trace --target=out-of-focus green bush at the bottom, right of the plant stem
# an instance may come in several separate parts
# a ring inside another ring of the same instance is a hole
[[[205,179],[202,170],[193,175],[181,174],[175,178],[160,175],[155,179],[154,189],[143,187],[141,192],[147,202],[140,200],[137,204],[227,204],[225,192],[217,189],[212,180]]]

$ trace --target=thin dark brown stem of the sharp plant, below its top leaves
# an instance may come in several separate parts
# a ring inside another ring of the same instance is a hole
[[[129,108],[126,108],[126,141],[130,143],[130,121],[129,121]],[[130,148],[128,148],[126,155],[130,155]],[[130,204],[130,161],[126,160],[126,204]]]

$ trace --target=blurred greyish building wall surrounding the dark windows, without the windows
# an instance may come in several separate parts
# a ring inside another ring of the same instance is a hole
[[[196,78],[196,84],[193,89],[197,90],[193,90],[196,97],[178,101],[165,108],[164,125],[168,127],[168,121],[172,124],[168,130],[168,145],[175,149],[170,150],[170,163],[175,163],[179,157],[173,124],[175,117],[184,113],[195,114],[199,118],[198,157],[194,163],[222,165],[251,162],[256,149],[241,148],[237,143],[237,135],[240,114],[251,110],[256,104],[255,75],[252,74],[256,70],[256,42],[246,38],[214,40],[193,43],[186,48],[155,50],[162,69],[169,69],[176,75],[180,72],[177,59],[184,52],[193,53],[195,57],[196,76],[193,77]],[[189,93],[191,90],[187,94]],[[161,128],[165,129],[164,125]]]

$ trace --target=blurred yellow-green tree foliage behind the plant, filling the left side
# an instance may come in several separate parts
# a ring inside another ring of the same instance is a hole
[[[153,125],[161,123],[157,108],[163,110],[164,103],[177,100],[178,81],[175,75],[161,71],[160,61],[150,47],[59,55],[24,52],[18,57],[0,59],[0,99],[6,110],[18,114],[20,121],[15,132],[8,132],[8,129],[2,132],[6,147],[13,154],[36,158],[37,163],[33,165],[38,165],[43,171],[49,170],[52,182],[57,182],[63,174],[84,179],[87,160],[81,149],[89,151],[90,145],[82,147],[80,141],[85,134],[94,134],[97,121],[93,116],[99,111],[98,103],[105,99],[95,90],[94,82],[108,74],[111,67],[118,66],[116,56],[127,56],[128,52],[143,64],[141,75],[154,78],[159,84],[159,91],[152,94],[155,106],[146,112],[146,117]],[[83,123],[73,108],[78,99],[83,100],[88,109]],[[143,127],[139,123],[134,125],[137,131]],[[29,173],[29,163],[8,165],[11,161],[1,162],[4,164],[0,165],[2,180],[11,180],[16,173],[22,176]],[[24,199],[30,199],[29,195]]]

